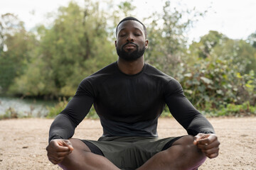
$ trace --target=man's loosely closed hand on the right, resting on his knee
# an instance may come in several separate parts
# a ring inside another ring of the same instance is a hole
[[[193,144],[197,145],[197,147],[206,154],[206,157],[210,159],[218,157],[220,142],[215,134],[198,133],[198,135],[194,137]]]

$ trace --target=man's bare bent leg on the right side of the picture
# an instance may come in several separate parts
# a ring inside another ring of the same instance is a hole
[[[151,157],[137,170],[194,170],[206,160],[206,155],[193,145],[193,136],[176,140],[169,149]]]

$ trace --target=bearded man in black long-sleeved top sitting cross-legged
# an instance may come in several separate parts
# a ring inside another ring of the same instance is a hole
[[[146,28],[137,18],[117,26],[118,60],[82,80],[50,127],[48,159],[63,169],[197,169],[218,156],[212,125],[183,94],[181,85],[144,63]],[[71,138],[92,104],[103,135],[98,141]],[[169,106],[188,135],[158,138],[157,120]]]

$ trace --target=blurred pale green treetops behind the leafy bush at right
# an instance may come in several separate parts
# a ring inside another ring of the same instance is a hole
[[[210,30],[199,42],[193,42],[189,50],[189,64],[206,58],[211,61],[229,60],[230,65],[234,65],[234,69],[241,74],[248,74],[252,69],[256,72],[256,50],[245,40],[231,40],[217,31]]]

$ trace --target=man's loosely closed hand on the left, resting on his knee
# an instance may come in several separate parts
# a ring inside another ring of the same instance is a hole
[[[53,164],[59,164],[73,151],[73,146],[69,140],[51,140],[46,147],[47,157]]]

